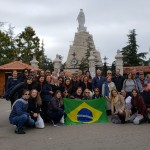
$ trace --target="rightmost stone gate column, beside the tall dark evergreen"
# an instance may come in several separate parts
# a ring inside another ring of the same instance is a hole
[[[120,74],[123,75],[123,55],[120,53],[120,50],[117,50],[116,59],[116,69],[120,69]]]

